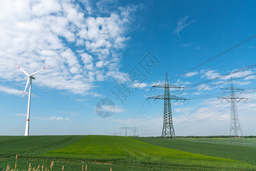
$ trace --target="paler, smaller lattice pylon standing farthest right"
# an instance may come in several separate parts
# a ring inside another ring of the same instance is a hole
[[[230,120],[230,128],[229,128],[229,140],[230,141],[239,141],[240,139],[243,140],[243,132],[242,128],[238,119],[238,112],[237,112],[237,102],[243,100],[246,103],[248,100],[244,97],[238,97],[235,95],[234,90],[237,90],[239,93],[242,93],[243,89],[233,87],[233,82],[231,78],[231,87],[221,88],[221,90],[225,93],[227,89],[230,89],[231,95],[226,97],[218,97],[218,99],[222,102],[226,99],[231,104],[231,120]]]

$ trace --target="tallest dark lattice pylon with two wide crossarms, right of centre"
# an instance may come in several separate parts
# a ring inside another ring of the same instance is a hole
[[[170,88],[181,89],[183,87],[177,87],[177,86],[170,85],[168,82],[167,73],[165,76],[165,83],[159,84],[159,85],[153,86],[153,87],[164,88],[164,95],[148,97],[148,99],[164,99],[164,125],[162,126],[162,138],[165,139],[167,137],[170,139],[176,139],[176,136],[174,133],[174,128],[173,128],[173,123],[172,123],[172,109],[170,107],[170,100],[184,100],[185,101],[185,100],[189,100],[189,99],[170,95]]]

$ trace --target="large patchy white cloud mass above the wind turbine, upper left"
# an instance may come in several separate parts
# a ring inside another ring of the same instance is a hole
[[[119,79],[120,51],[129,40],[126,31],[136,6],[97,14],[90,4],[71,0],[1,3],[0,81],[26,82],[15,63],[29,74],[50,65],[35,75],[35,84],[81,95],[92,93],[95,82]]]

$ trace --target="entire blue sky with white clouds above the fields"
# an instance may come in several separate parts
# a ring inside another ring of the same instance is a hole
[[[170,92],[191,99],[172,101],[176,136],[229,134],[230,104],[217,97],[229,95],[220,88],[231,77],[249,99],[237,104],[243,135],[255,135],[255,67],[234,71],[255,63],[256,39],[202,64],[256,34],[255,1],[0,3],[0,135],[25,132],[27,77],[16,63],[29,74],[50,65],[33,80],[30,135],[124,135],[120,127],[137,127],[139,136],[160,136],[164,101],[146,99],[164,93],[151,87],[166,72],[185,87]],[[148,72],[149,52],[158,63]],[[127,79],[135,70],[144,78]],[[120,85],[126,99],[113,94]],[[95,111],[104,98],[115,104],[108,118]]]

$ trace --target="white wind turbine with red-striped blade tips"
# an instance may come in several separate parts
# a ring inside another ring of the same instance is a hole
[[[16,64],[17,65],[17,64]],[[18,66],[18,65],[17,65]],[[19,66],[18,66],[19,67]],[[47,66],[48,67],[48,66]],[[27,121],[26,121],[26,129],[25,129],[25,136],[29,136],[29,115],[30,115],[30,99],[31,99],[31,87],[32,87],[32,79],[35,79],[33,75],[35,75],[36,73],[44,70],[45,68],[47,67],[44,67],[43,69],[39,70],[39,71],[36,71],[34,72],[33,74],[29,75],[27,74],[26,71],[24,71],[21,67],[19,67],[19,69],[21,69],[21,71],[27,75],[29,78],[27,78],[27,84],[26,84],[26,87],[25,87],[25,90],[23,92],[23,95],[22,95],[22,98],[23,99],[23,96],[26,92],[26,89],[27,89],[27,85],[29,84],[30,82],[30,86],[29,86],[29,103],[27,104]]]

